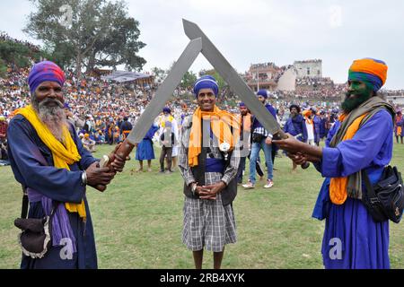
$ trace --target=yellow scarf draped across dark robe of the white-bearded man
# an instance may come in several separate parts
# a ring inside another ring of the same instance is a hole
[[[65,142],[62,144],[57,141],[54,135],[52,135],[48,127],[40,121],[40,117],[38,117],[37,112],[31,105],[19,109],[16,114],[21,114],[35,128],[40,136],[40,140],[45,143],[45,145],[48,146],[48,149],[52,152],[53,162],[57,169],[70,170],[69,165],[80,161],[81,156],[78,153],[75,142],[66,126],[63,129],[63,138],[65,139]],[[86,213],[83,199],[81,204],[65,203],[65,206],[70,213],[79,213],[79,216],[85,220]]]

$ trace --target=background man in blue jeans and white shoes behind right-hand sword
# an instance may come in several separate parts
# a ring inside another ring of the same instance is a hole
[[[260,102],[268,109],[268,112],[274,117],[277,118],[277,111],[272,107],[269,103],[266,103],[268,99],[268,91],[267,90],[259,90],[257,92],[257,96]],[[259,123],[259,120],[253,116],[251,121],[251,154],[250,154],[250,178],[248,182],[242,187],[244,188],[254,188],[255,187],[255,171],[257,159],[259,158],[259,152],[262,149],[265,155],[265,162],[267,165],[267,183],[264,188],[270,188],[274,186],[273,181],[273,164],[272,164],[272,135],[264,128],[264,126]]]

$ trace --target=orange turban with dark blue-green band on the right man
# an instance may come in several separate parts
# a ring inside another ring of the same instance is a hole
[[[387,65],[381,60],[364,58],[355,60],[349,67],[348,80],[362,81],[373,91],[379,91],[386,78]]]

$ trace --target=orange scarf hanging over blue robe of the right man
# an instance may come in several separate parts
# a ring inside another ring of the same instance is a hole
[[[362,120],[368,113],[357,117],[356,120],[347,129],[347,134],[344,135],[342,141],[350,140],[354,137]],[[339,121],[342,123],[347,115],[339,116]],[[347,200],[347,182],[348,178],[331,178],[329,183],[329,198],[333,204],[344,204]]]

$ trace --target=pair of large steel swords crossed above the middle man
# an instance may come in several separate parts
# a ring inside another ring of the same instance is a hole
[[[143,140],[150,126],[154,123],[154,118],[160,114],[165,103],[170,99],[172,92],[180,83],[182,76],[187,73],[199,53],[202,53],[209,63],[214,66],[215,70],[232,87],[233,91],[242,99],[252,114],[259,119],[262,126],[270,134],[274,135],[274,138],[287,138],[287,135],[285,135],[277,123],[276,118],[257,99],[254,92],[251,91],[250,87],[242,80],[220,51],[215,48],[215,45],[206,37],[198,25],[185,19],[182,19],[182,23],[185,34],[190,39],[187,48],[185,48],[177,62],[172,66],[170,73],[155,92],[153,100],[147,105],[116,153],[125,159],[132,152],[136,143],[140,143]],[[109,159],[109,163],[112,161],[113,159]],[[303,169],[307,169],[309,164],[306,163],[302,167]],[[96,188],[103,191],[106,187],[98,186]]]

